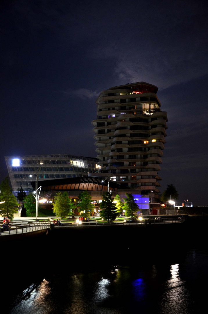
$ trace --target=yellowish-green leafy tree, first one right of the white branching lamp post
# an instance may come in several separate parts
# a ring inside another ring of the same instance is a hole
[[[56,216],[61,216],[61,219],[63,219],[73,214],[72,209],[74,208],[74,203],[72,199],[68,197],[67,192],[56,193],[54,200],[53,212]]]

